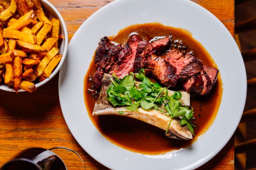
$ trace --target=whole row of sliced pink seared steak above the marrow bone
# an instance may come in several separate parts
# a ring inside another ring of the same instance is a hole
[[[218,69],[204,66],[190,54],[170,49],[170,38],[160,38],[151,43],[133,34],[125,45],[113,45],[108,37],[101,38],[95,53],[96,72],[93,83],[100,88],[104,73],[123,78],[142,68],[165,86],[180,89],[193,95],[207,95],[217,80]],[[181,86],[181,87],[179,87]]]

